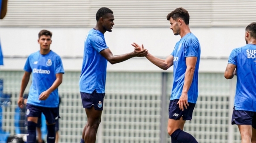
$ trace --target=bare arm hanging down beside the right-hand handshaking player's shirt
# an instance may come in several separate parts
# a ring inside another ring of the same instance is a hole
[[[184,79],[184,86],[182,89],[180,100],[177,104],[179,104],[179,107],[182,111],[184,111],[184,107],[187,109],[188,105],[188,90],[191,86],[194,72],[196,69],[196,61],[197,57],[186,57],[186,72],[185,72],[185,79]]]

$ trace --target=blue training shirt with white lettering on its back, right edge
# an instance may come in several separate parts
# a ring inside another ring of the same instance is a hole
[[[232,50],[228,63],[237,66],[236,110],[256,112],[256,45]]]

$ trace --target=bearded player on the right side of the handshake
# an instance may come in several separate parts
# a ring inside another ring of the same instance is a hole
[[[173,65],[173,89],[169,103],[168,134],[172,143],[198,143],[196,139],[183,131],[186,120],[192,119],[192,113],[198,97],[198,68],[200,62],[200,43],[189,29],[189,14],[180,7],[167,15],[170,29],[181,39],[166,60],[147,54],[153,64],[167,70]],[[143,45],[132,46],[143,50]]]

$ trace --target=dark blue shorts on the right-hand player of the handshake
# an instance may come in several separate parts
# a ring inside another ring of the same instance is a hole
[[[182,111],[179,107],[178,99],[170,100],[169,104],[169,119],[179,120],[181,117],[183,120],[192,120],[192,114],[196,104],[188,102],[188,109],[184,107]]]

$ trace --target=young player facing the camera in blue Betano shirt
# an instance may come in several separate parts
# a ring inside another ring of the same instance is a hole
[[[45,115],[47,125],[47,143],[55,142],[55,122],[59,117],[58,86],[62,82],[64,69],[60,56],[50,50],[52,33],[41,30],[38,34],[40,50],[30,54],[24,66],[19,107],[23,107],[23,93],[32,73],[32,84],[26,105],[27,143],[35,143],[36,126],[41,113]]]

